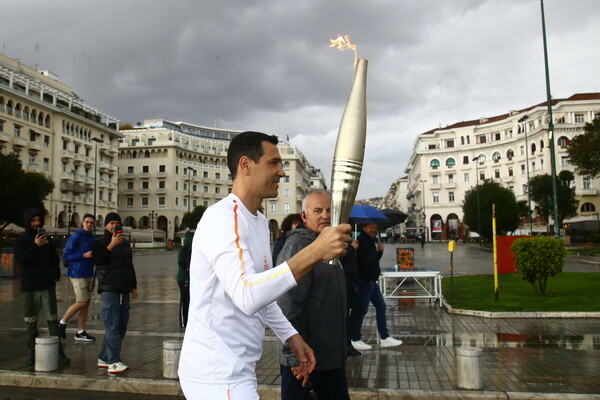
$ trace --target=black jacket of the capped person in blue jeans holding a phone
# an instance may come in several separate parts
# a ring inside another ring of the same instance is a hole
[[[129,293],[137,289],[137,279],[133,268],[133,253],[129,241],[116,246],[112,251],[108,245],[112,233],[104,231],[102,237],[92,243],[92,260],[96,264],[98,274],[98,293]]]

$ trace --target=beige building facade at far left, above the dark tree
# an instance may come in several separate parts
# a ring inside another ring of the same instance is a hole
[[[87,105],[49,71],[0,54],[0,152],[55,183],[46,226],[80,225],[85,213],[117,208],[119,121]],[[97,156],[96,156],[97,155]]]

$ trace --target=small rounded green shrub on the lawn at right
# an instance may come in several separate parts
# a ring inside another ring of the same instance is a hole
[[[564,265],[567,250],[562,239],[544,236],[517,239],[511,249],[517,271],[537,293],[545,295],[548,279],[561,272]]]

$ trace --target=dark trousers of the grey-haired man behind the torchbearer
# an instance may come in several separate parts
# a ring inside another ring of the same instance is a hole
[[[281,400],[312,400],[308,388],[296,379],[290,367],[280,365]],[[318,399],[350,400],[344,368],[329,371],[313,371],[310,386]]]

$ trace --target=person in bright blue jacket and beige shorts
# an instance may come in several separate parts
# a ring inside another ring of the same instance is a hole
[[[78,228],[65,244],[63,261],[67,264],[67,276],[71,279],[75,292],[75,303],[58,322],[60,336],[67,337],[67,323],[77,313],[77,332],[75,340],[93,342],[95,337],[85,331],[92,291],[94,290],[94,263],[92,262],[92,243],[94,236],[94,216],[85,214],[81,228]]]

